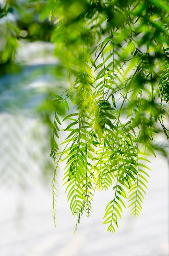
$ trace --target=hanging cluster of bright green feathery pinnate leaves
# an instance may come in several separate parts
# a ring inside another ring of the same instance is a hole
[[[162,131],[169,138],[169,5],[161,0],[52,0],[49,6],[55,54],[70,83],[56,98],[59,104],[66,106],[68,98],[76,105],[63,120],[69,121],[69,133],[61,153],[57,110],[55,115],[54,221],[57,169],[65,161],[64,184],[77,225],[84,211],[91,215],[94,191],[112,188],[103,223],[114,232],[127,198],[131,214],[140,214],[147,158],[156,157],[154,138]]]

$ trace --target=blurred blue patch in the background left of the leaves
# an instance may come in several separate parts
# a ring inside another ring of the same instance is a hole
[[[52,90],[51,84],[56,83],[54,68],[55,65],[50,64],[20,66],[19,72],[1,76],[0,112],[13,112],[15,108],[33,112]]]

